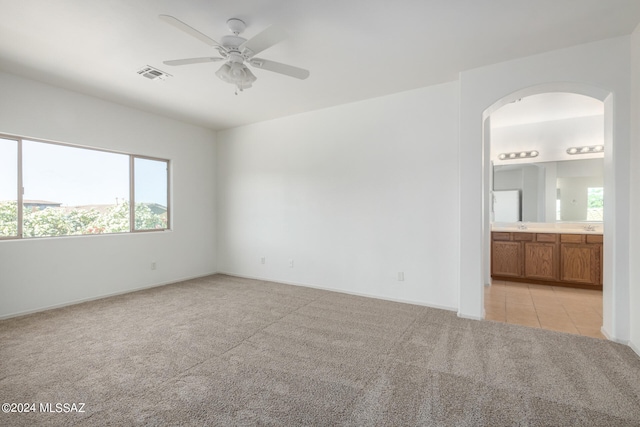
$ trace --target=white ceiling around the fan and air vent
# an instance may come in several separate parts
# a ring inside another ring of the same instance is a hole
[[[0,11],[0,69],[211,129],[453,81],[640,22],[638,0],[0,0]],[[311,76],[254,70],[236,96],[214,75],[219,64],[162,64],[216,52],[159,14],[216,40],[231,17],[247,38],[279,24],[290,37],[259,56]],[[145,79],[145,65],[173,77]]]

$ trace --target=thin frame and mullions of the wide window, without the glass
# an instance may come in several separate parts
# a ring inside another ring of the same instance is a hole
[[[7,240],[31,240],[31,239],[48,239],[48,238],[56,238],[56,237],[81,237],[81,236],[101,236],[101,235],[114,235],[114,234],[129,234],[129,233],[149,233],[149,232],[162,232],[162,231],[171,231],[172,230],[172,205],[171,205],[171,172],[172,172],[172,161],[171,159],[165,159],[161,157],[155,156],[147,156],[142,154],[134,154],[134,153],[126,153],[117,150],[96,148],[86,145],[80,144],[71,144],[67,142],[59,142],[59,141],[50,141],[40,138],[30,138],[25,136],[11,135],[0,133],[0,138],[16,141],[17,142],[17,156],[16,161],[17,165],[17,216],[18,216],[18,224],[17,224],[17,233],[15,236],[0,236],[0,241]],[[60,235],[60,236],[38,236],[38,237],[24,237],[24,175],[23,175],[23,156],[22,156],[22,142],[29,141],[38,144],[50,144],[50,145],[58,145],[63,147],[75,148],[79,150],[92,150],[98,151],[102,153],[112,153],[124,155],[129,158],[129,230],[123,232],[113,232],[113,233],[87,233],[87,234],[68,234],[68,235]],[[153,229],[136,229],[135,227],[135,159],[145,159],[152,160],[158,162],[164,162],[166,164],[166,188],[167,188],[167,223],[164,228],[153,228]]]

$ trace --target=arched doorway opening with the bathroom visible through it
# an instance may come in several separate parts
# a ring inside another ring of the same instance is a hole
[[[487,117],[494,239],[485,248],[485,262],[493,260],[485,318],[604,338],[602,245],[566,243],[602,241],[604,110],[597,98],[556,91],[517,98]],[[594,255],[592,269],[570,277],[569,251],[583,248]]]

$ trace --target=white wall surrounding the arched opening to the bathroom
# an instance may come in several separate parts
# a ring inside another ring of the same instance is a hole
[[[488,236],[488,144],[484,117],[504,103],[545,91],[605,102],[605,270],[603,331],[629,339],[630,37],[620,37],[460,74],[460,315],[482,317]],[[610,95],[610,96],[609,96]],[[608,120],[608,121],[607,121]]]

